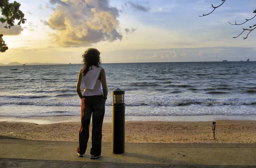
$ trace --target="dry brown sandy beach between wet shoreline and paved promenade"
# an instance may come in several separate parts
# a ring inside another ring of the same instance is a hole
[[[79,122],[44,125],[0,122],[0,136],[78,141],[79,128]],[[219,120],[215,133],[219,143],[256,143],[256,121]],[[111,123],[103,123],[102,142],[111,142],[111,134]],[[128,143],[215,143],[209,141],[211,135],[212,122],[125,122],[125,142]]]

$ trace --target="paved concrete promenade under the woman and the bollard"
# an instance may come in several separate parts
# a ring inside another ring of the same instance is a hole
[[[256,144],[126,143],[124,154],[112,154],[111,143],[102,143],[102,157],[92,160],[90,143],[78,157],[78,142],[0,138],[0,167],[256,167]]]

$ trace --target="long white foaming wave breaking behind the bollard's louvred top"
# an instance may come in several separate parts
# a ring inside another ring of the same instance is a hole
[[[177,90],[177,92],[180,92]],[[76,96],[76,94],[61,94],[57,95],[57,97],[69,97]],[[5,99],[4,96],[0,99],[0,105],[8,105],[8,104],[17,104],[17,105],[34,105],[34,106],[81,106],[81,101],[79,100],[66,100],[63,99],[32,99],[32,97],[26,96],[26,98],[21,98],[22,96],[14,96],[14,98],[21,99]],[[256,98],[173,98],[171,99],[159,99],[158,101],[151,101],[150,99],[142,102],[138,102],[138,100],[131,100],[128,97],[126,100],[126,106],[188,106],[188,105],[202,105],[202,106],[223,106],[223,105],[232,105],[232,106],[241,106],[241,105],[254,105],[256,104]],[[11,96],[12,98],[12,96]],[[44,98],[44,96],[38,96],[38,98]],[[57,102],[56,102],[57,101]],[[106,106],[111,106],[112,101],[109,99],[106,102]]]

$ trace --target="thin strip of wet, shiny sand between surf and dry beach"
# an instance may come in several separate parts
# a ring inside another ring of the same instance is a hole
[[[256,121],[256,115],[247,116],[125,116],[125,122],[212,122],[219,120]],[[0,122],[27,122],[39,125],[80,122],[80,116],[3,117]],[[104,123],[111,123],[112,117],[105,116]]]

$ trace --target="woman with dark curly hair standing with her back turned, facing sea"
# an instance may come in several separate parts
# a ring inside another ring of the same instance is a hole
[[[102,123],[105,114],[105,102],[108,96],[105,70],[101,67],[100,52],[87,49],[83,54],[84,66],[80,70],[76,92],[81,98],[81,128],[79,131],[78,156],[83,157],[89,139],[90,119],[93,116],[91,159],[101,157]],[[102,88],[101,88],[102,87]],[[84,92],[81,92],[84,89]]]

